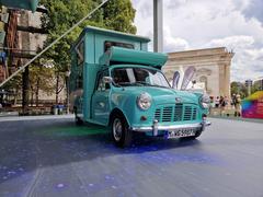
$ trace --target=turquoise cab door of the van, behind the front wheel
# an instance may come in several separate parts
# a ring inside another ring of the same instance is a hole
[[[106,125],[110,116],[111,85],[104,83],[103,77],[108,77],[108,70],[99,73],[96,89],[92,96],[92,119]]]

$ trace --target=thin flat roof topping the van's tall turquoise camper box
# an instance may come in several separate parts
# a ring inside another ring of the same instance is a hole
[[[80,39],[85,35],[87,32],[93,32],[95,34],[107,35],[107,36],[108,35],[110,36],[117,36],[117,37],[121,37],[121,38],[129,38],[132,40],[137,40],[137,42],[142,42],[142,43],[149,43],[150,42],[150,39],[148,37],[144,37],[144,36],[127,34],[127,33],[112,31],[112,30],[99,28],[99,27],[94,27],[94,26],[87,26],[87,27],[83,28],[83,31],[79,35],[78,39],[73,43],[70,50],[72,50],[72,48],[76,47],[76,45],[80,42]]]

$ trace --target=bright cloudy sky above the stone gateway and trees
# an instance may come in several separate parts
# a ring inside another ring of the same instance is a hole
[[[152,39],[153,0],[132,2],[137,34]],[[263,77],[263,0],[163,0],[163,44],[165,53],[227,47],[231,81]]]

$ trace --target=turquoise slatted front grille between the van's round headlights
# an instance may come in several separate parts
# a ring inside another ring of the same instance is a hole
[[[190,121],[197,118],[197,107],[195,105],[175,104],[160,106],[155,112],[155,119],[159,123],[167,121]]]

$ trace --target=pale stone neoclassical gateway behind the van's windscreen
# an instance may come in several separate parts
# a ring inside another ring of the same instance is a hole
[[[163,71],[169,80],[176,70],[196,69],[194,79],[209,95],[230,97],[230,66],[232,51],[226,47],[169,53]]]

